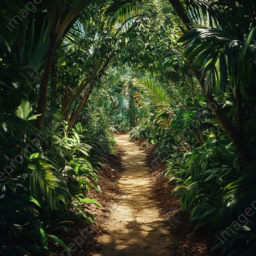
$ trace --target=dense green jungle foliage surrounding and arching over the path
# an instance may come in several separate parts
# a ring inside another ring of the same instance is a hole
[[[240,220],[256,209],[254,1],[3,2],[0,254],[69,250],[56,230],[94,221],[95,167],[131,130],[196,230],[255,255],[255,216]]]

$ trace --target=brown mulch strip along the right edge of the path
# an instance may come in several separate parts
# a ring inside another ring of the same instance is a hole
[[[139,145],[146,144],[146,141],[137,141]],[[150,166],[156,159],[155,147],[152,144],[146,145],[142,150],[147,154],[146,165]],[[180,197],[172,195],[172,190],[176,184],[166,180],[165,163],[154,164],[156,169],[152,169],[151,183],[153,187],[153,197],[158,202],[158,207],[162,211],[162,218],[166,222],[166,228],[175,242],[169,245],[170,252],[185,256],[215,256],[221,255],[220,251],[210,252],[217,240],[216,234],[219,230],[203,226],[194,232],[196,222],[189,222],[189,214],[186,211],[179,211]]]

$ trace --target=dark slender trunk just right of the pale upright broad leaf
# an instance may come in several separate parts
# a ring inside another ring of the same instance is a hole
[[[49,50],[48,50],[48,54],[47,54],[44,74],[43,74],[42,81],[40,84],[40,94],[39,94],[39,99],[38,99],[38,104],[37,104],[37,114],[42,114],[40,116],[37,116],[37,119],[35,122],[35,126],[39,130],[42,129],[43,124],[44,124],[46,102],[47,102],[48,81],[49,81],[49,76],[51,73],[51,65],[52,65],[52,61],[54,58],[55,50],[56,50],[55,44],[53,41],[51,41]]]

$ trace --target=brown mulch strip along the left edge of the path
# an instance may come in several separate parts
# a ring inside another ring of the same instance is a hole
[[[103,167],[96,166],[95,169],[99,172],[100,178],[100,187],[102,190],[102,194],[98,193],[95,189],[91,189],[89,193],[86,194],[86,197],[97,200],[103,208],[98,207],[97,205],[90,204],[86,205],[90,210],[89,212],[97,219],[96,226],[93,226],[94,232],[90,235],[87,232],[83,232],[86,238],[81,239],[78,238],[78,243],[81,242],[81,247],[75,243],[74,247],[71,248],[75,249],[75,251],[71,251],[72,256],[87,256],[93,253],[96,248],[99,246],[98,238],[101,234],[105,233],[105,222],[108,219],[109,209],[113,202],[118,202],[119,194],[121,190],[118,187],[118,180],[122,175],[123,168],[121,166],[121,156],[124,155],[124,151],[121,147],[115,146],[116,154],[109,154],[104,156],[105,161],[102,163],[104,164]],[[81,236],[81,232],[88,227],[89,224],[85,223],[82,220],[77,220],[74,224],[70,227],[75,230],[70,234],[64,233],[64,231],[57,232],[56,235],[59,239],[61,239],[67,246],[70,243],[74,243],[74,239],[78,236]],[[90,231],[91,229],[88,228]],[[82,237],[83,238],[83,237]],[[53,248],[51,248],[50,255],[61,255],[64,248],[59,244],[53,244]],[[63,252],[63,255],[68,255],[67,252]],[[70,254],[71,255],[71,254]]]

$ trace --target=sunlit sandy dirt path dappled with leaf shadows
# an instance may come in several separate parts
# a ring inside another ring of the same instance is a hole
[[[124,191],[122,200],[111,206],[108,233],[100,238],[101,249],[93,256],[157,256],[169,255],[170,239],[163,229],[159,210],[151,198],[151,185],[145,154],[129,140],[129,135],[115,137],[126,151],[123,156],[125,171],[120,179]]]

